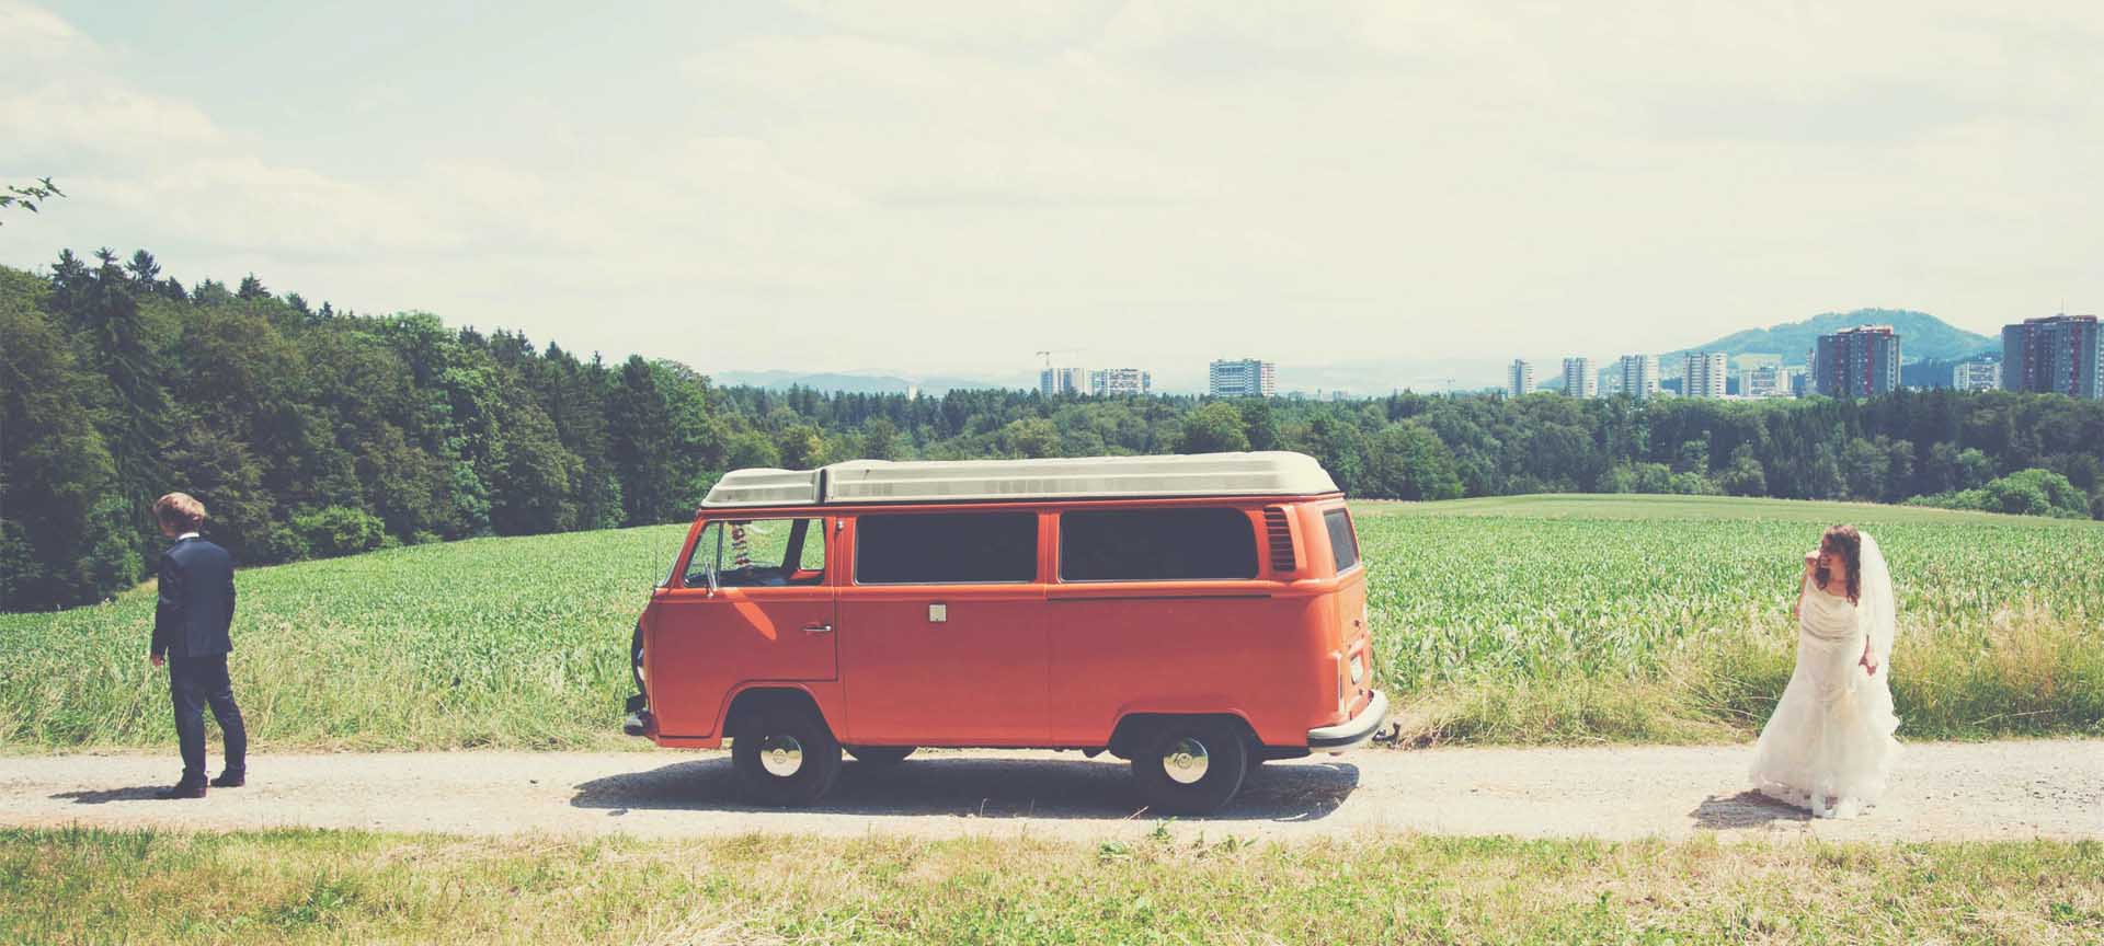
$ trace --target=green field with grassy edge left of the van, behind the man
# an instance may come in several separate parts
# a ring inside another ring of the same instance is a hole
[[[425,544],[236,574],[259,748],[627,746],[629,629],[682,526]],[[168,744],[154,589],[0,616],[0,744]]]

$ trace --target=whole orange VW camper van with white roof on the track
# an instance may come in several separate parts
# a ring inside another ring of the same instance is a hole
[[[755,801],[917,746],[1109,750],[1147,805],[1368,742],[1365,565],[1288,452],[741,469],[635,626],[627,732]]]

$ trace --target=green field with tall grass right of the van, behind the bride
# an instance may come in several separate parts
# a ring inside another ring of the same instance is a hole
[[[1633,519],[1643,507],[1614,498],[1593,517],[1549,498],[1557,515],[1504,500],[1363,517],[1376,656],[1405,694],[1405,740],[1759,732],[1795,664],[1799,559],[1820,521],[1866,517],[1778,500],[1681,517],[1692,507],[1662,500],[1658,517]],[[1732,515],[1742,509],[1763,515]],[[1866,528],[1898,593],[1883,673],[1904,738],[2104,736],[2104,528],[1879,513]]]

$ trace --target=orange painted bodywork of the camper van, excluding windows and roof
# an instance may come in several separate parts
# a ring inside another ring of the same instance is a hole
[[[644,614],[648,734],[715,746],[739,692],[793,687],[848,744],[1102,748],[1132,713],[1225,713],[1267,746],[1307,746],[1309,729],[1342,723],[1372,698],[1365,570],[1330,568],[1323,511],[1342,505],[1326,494],[707,509]],[[1161,507],[1243,511],[1258,574],[1060,580],[1063,511]],[[1265,509],[1286,513],[1292,570],[1273,568]],[[856,584],[856,517],[909,511],[1037,513],[1035,578]],[[684,587],[709,519],[768,517],[823,517],[823,584]],[[1365,669],[1357,683],[1347,679],[1353,656]]]

